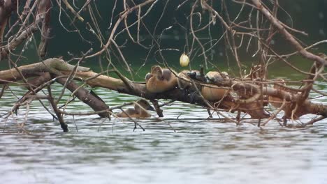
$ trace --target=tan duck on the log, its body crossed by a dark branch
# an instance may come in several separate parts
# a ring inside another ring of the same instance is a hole
[[[226,72],[208,72],[205,78],[208,82],[218,82],[219,80],[228,79],[228,74]],[[227,89],[218,89],[215,85],[210,86],[212,87],[203,86],[201,89],[201,94],[206,100],[218,101],[228,94]]]

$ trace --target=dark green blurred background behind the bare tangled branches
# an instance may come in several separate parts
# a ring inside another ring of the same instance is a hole
[[[85,1],[75,1],[76,6],[81,7]],[[118,13],[122,11],[123,8],[123,1],[117,1],[115,12],[113,12],[113,22],[119,17]],[[127,1],[129,4],[132,4],[131,1]],[[141,3],[143,1],[138,0],[135,3]],[[187,30],[189,30],[189,20],[187,20],[187,15],[190,14],[191,6],[193,5],[194,1],[187,1],[184,3],[183,6],[177,8],[181,3],[184,1],[177,1],[177,0],[162,0],[158,1],[152,11],[144,18],[144,24],[147,26],[147,29],[150,30],[151,33],[154,32],[154,27],[157,25],[157,29],[154,33],[155,38],[159,38],[161,36],[161,49],[174,49],[169,51],[163,51],[163,56],[168,61],[169,65],[175,70],[181,70],[179,66],[179,57],[180,54],[184,51],[189,51],[185,45],[187,45],[188,41],[191,41],[191,35],[186,34],[182,26],[185,26]],[[268,7],[272,7],[270,1],[263,1],[266,3]],[[52,1],[54,8],[52,9],[51,15],[51,39],[48,45],[48,55],[49,57],[55,56],[64,56],[65,60],[71,59],[73,56],[80,56],[81,52],[86,52],[90,47],[94,49],[94,52],[100,49],[100,43],[96,40],[94,34],[86,29],[87,24],[91,24],[92,20],[89,16],[89,11],[87,8],[82,10],[80,13],[82,17],[85,18],[85,22],[76,21],[76,26],[80,29],[80,34],[85,40],[83,40],[80,35],[73,31],[75,30],[74,26],[71,26],[71,20],[67,18],[65,13],[60,14],[59,7],[57,6],[57,1]],[[115,1],[95,1],[91,3],[92,9],[94,11],[94,15],[98,21],[99,27],[103,33],[103,36],[106,39],[111,32],[111,29],[108,29],[110,26],[110,20],[112,15],[112,9],[115,4]],[[234,19],[241,8],[240,4],[233,3],[232,1],[226,1],[226,5],[228,7],[228,13],[231,19]],[[300,29],[308,33],[309,36],[303,36],[298,33],[295,33],[295,36],[307,45],[315,43],[319,40],[326,40],[327,38],[327,0],[315,0],[315,1],[307,1],[307,0],[296,0],[296,1],[279,1],[279,5],[282,8],[279,8],[278,17],[282,22],[292,26],[295,29]],[[96,8],[95,8],[96,6]],[[166,8],[165,8],[166,6]],[[222,16],[225,17],[224,12],[221,12],[221,1],[214,1],[213,3],[214,8],[221,13]],[[148,6],[147,6],[148,8]],[[145,13],[146,8],[143,8],[142,13]],[[163,12],[163,17],[161,17],[161,13]],[[237,22],[242,22],[248,19],[249,12],[251,8],[245,6],[243,13],[238,18]],[[67,11],[68,12],[68,11]],[[198,16],[194,15],[194,28],[198,29],[204,26],[209,20],[208,17],[210,16],[208,12],[201,10],[200,7],[196,8],[196,12],[202,13],[202,23],[199,24]],[[68,12],[70,17],[73,17],[71,13]],[[159,19],[161,20],[159,22]],[[252,18],[256,17],[256,12],[254,11],[252,14]],[[135,22],[137,19],[136,13],[132,13],[129,16],[128,22],[131,24]],[[60,21],[59,21],[60,20]],[[15,19],[11,20],[12,22]],[[70,31],[66,31],[61,23],[66,27],[66,29]],[[159,23],[158,23],[159,22]],[[178,22],[178,24],[177,24]],[[255,21],[253,22],[255,23]],[[170,27],[170,29],[167,29]],[[255,26],[255,25],[254,25]],[[119,26],[118,31],[122,30],[123,26]],[[167,29],[162,33],[164,29]],[[136,39],[137,33],[137,26],[133,26],[130,29],[133,38]],[[244,31],[244,30],[243,30]],[[217,19],[217,23],[215,26],[210,27],[210,33],[212,39],[218,39],[222,33],[223,29],[221,23]],[[204,31],[200,31],[197,33],[197,36],[201,38],[203,43],[207,42],[210,38],[208,29]],[[28,44],[28,49],[24,52],[24,56],[26,58],[19,61],[18,65],[23,65],[26,63],[34,63],[39,61],[38,55],[36,53],[36,46],[35,43],[38,43],[39,36],[35,37],[35,42],[31,41]],[[186,39],[187,38],[187,39]],[[149,46],[151,44],[151,36],[147,33],[144,26],[141,24],[140,29],[140,39],[144,39],[143,44]],[[126,34],[126,31],[119,34],[116,38],[118,45],[124,45],[122,47],[122,52],[126,58],[126,61],[129,62],[131,68],[133,68],[134,74],[136,79],[142,79],[145,73],[149,70],[149,68],[154,64],[161,64],[161,58],[158,54],[157,47],[152,49],[152,52],[149,50],[140,47],[139,45],[133,43]],[[238,39],[239,43],[240,39]],[[256,52],[256,41],[252,40],[251,47],[247,51],[246,46],[249,42],[248,38],[244,40],[245,44],[243,47],[240,48],[240,60],[242,63],[245,63],[245,66],[249,68],[253,63],[257,63],[258,55],[253,56]],[[199,49],[199,45],[196,44],[194,50]],[[176,51],[177,49],[178,51]],[[273,49],[275,49],[280,54],[286,54],[289,52],[293,52],[294,49],[286,43],[282,38],[276,36],[273,40]],[[117,54],[117,50],[115,48],[110,49],[112,52]],[[222,68],[221,70],[228,70],[229,72],[235,72],[235,60],[231,53],[225,52],[226,44],[224,40],[220,41],[215,47],[213,47],[212,52],[208,52],[208,61],[210,63],[214,63],[215,66]],[[327,47],[325,45],[320,45],[317,48],[312,49],[312,52],[324,52],[326,53]],[[199,51],[201,52],[201,50]],[[156,54],[157,53],[157,54]],[[193,52],[194,53],[194,52]],[[145,60],[147,58],[147,60]],[[193,54],[191,56],[191,68],[198,69],[201,65],[203,65],[203,56],[198,56],[198,54]],[[289,61],[293,64],[302,68],[304,70],[309,70],[312,62],[306,61],[302,59],[300,56],[294,56]],[[115,63],[115,66],[119,68],[124,73],[126,72],[126,67],[121,59],[115,58],[112,55],[112,62]],[[73,62],[72,62],[73,63]],[[88,66],[99,72],[101,70],[100,66],[102,65],[103,68],[106,68],[108,65],[108,59],[104,58],[103,56],[94,57],[92,59],[87,59],[82,63],[83,66]],[[1,64],[1,68],[6,68],[6,63]],[[210,66],[211,68],[212,66]],[[140,69],[140,70],[139,70]],[[270,66],[270,76],[283,76],[283,77],[291,77],[293,72],[290,72],[290,68],[286,66],[281,61],[276,61],[273,65]],[[297,74],[295,74],[297,75]]]

